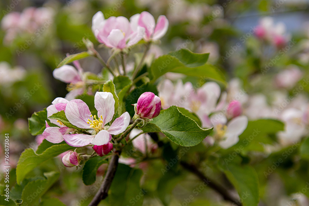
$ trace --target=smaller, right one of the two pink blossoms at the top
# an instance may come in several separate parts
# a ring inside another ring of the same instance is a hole
[[[168,20],[166,16],[160,15],[156,24],[155,18],[147,11],[133,15],[130,18],[130,22],[133,30],[136,30],[138,27],[145,28],[144,39],[146,41],[162,38],[168,29]]]

